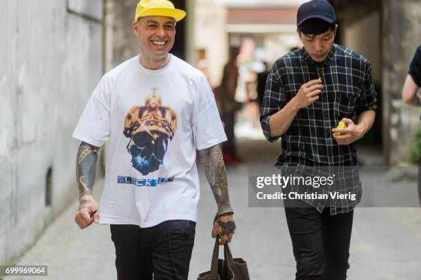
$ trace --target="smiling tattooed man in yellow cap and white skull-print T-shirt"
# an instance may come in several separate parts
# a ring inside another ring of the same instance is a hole
[[[73,137],[80,207],[76,223],[110,224],[118,279],[187,279],[199,177],[196,158],[217,202],[212,235],[235,232],[219,143],[226,141],[204,75],[169,54],[186,12],[166,0],[142,0],[133,32],[140,55],[106,73]],[[109,141],[100,205],[92,196],[99,148]]]

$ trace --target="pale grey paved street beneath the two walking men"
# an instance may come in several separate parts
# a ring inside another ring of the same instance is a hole
[[[230,198],[238,228],[231,243],[233,255],[248,261],[253,280],[294,279],[292,246],[283,209],[248,207],[249,171],[270,170],[279,143],[245,141],[241,150],[247,164],[228,167]],[[101,184],[98,180],[98,185]],[[415,182],[405,181],[405,184],[413,185],[415,194]],[[99,189],[98,186],[94,189],[97,198]],[[94,225],[80,231],[73,221],[76,209],[74,203],[64,211],[19,264],[47,265],[49,276],[39,279],[116,279],[109,226]],[[215,211],[215,200],[202,177],[202,199],[189,279],[196,279],[199,272],[210,268],[214,244],[210,227]],[[348,279],[419,280],[420,250],[419,208],[358,208],[354,215]]]

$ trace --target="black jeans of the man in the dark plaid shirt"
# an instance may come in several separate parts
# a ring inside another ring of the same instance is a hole
[[[296,261],[296,280],[343,280],[349,268],[354,211],[330,215],[325,208],[285,208]]]

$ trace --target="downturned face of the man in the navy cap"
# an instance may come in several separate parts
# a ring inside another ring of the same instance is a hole
[[[301,42],[303,42],[304,49],[310,55],[312,60],[315,62],[325,61],[334,44],[337,29],[338,25],[335,26],[334,30],[327,30],[327,32],[318,35],[306,35],[298,31]]]

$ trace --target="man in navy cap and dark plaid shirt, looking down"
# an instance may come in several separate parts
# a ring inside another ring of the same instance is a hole
[[[301,5],[297,33],[303,47],[274,63],[261,107],[268,141],[282,137],[276,163],[281,174],[334,178],[331,185],[290,185],[283,190],[304,194],[294,207],[285,207],[297,280],[347,277],[354,207],[361,198],[355,142],[371,128],[377,108],[369,62],[334,44],[337,30],[330,3]],[[336,128],[339,122],[346,127]],[[308,196],[317,194],[315,190],[327,198]],[[343,196],[333,197],[335,193]]]

